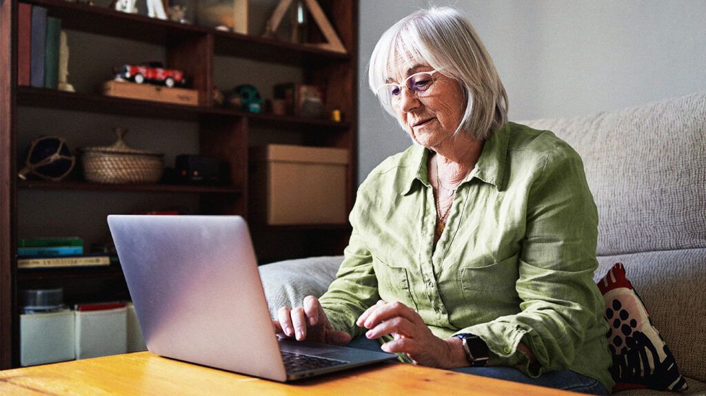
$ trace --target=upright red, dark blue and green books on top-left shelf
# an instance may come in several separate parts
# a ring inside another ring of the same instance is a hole
[[[19,85],[56,89],[59,86],[61,19],[47,16],[47,8],[18,4]]]

